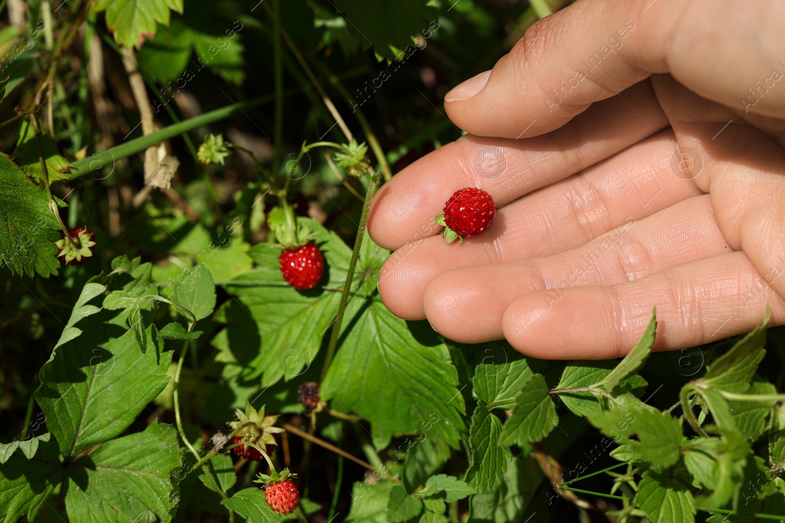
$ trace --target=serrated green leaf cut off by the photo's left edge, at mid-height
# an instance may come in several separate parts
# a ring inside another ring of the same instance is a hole
[[[46,190],[28,180],[8,154],[0,154],[0,216],[0,262],[31,278],[36,272],[44,278],[57,274],[60,225]]]

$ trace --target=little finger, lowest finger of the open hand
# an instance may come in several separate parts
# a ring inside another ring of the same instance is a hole
[[[754,289],[752,294],[747,289]],[[625,355],[657,307],[655,350],[696,347],[761,325],[785,322],[785,302],[743,252],[732,252],[618,285],[570,289],[546,303],[536,291],[509,305],[503,330],[524,354],[548,359]]]

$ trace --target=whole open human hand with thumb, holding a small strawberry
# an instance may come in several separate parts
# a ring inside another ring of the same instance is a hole
[[[368,231],[395,252],[393,314],[539,358],[626,354],[785,323],[782,2],[582,0],[445,97],[469,135],[386,183]],[[750,90],[748,90],[750,89]],[[745,101],[746,100],[746,101]],[[446,245],[462,187],[495,223]]]

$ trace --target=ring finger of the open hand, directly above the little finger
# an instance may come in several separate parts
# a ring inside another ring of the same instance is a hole
[[[507,307],[529,292],[550,289],[542,299],[557,303],[576,287],[615,285],[726,252],[710,197],[697,196],[555,256],[440,274],[425,289],[425,316],[450,340],[498,340]]]

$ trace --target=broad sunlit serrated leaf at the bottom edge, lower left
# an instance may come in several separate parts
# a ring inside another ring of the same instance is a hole
[[[170,521],[182,466],[177,430],[153,421],[144,432],[107,441],[68,467],[65,507],[73,523]]]

